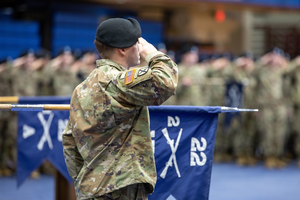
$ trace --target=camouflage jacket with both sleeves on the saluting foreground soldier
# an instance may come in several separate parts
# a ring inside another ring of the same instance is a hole
[[[149,67],[132,70],[98,60],[97,68],[72,95],[63,146],[77,199],[112,195],[137,183],[145,183],[147,194],[154,190],[147,106],[159,106],[175,94],[178,68],[161,52],[152,52],[145,60]]]

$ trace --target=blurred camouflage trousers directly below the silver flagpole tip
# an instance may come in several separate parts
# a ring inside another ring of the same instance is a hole
[[[238,123],[238,122],[237,122]],[[256,120],[254,112],[241,112],[241,126],[235,125],[233,153],[235,156],[254,156]]]

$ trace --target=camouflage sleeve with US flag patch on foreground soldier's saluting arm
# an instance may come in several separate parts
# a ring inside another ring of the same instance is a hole
[[[116,100],[139,106],[159,106],[175,94],[177,65],[161,52],[150,53],[145,61],[149,66],[127,70],[113,77]]]

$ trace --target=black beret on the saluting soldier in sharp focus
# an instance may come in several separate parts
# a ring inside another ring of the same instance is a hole
[[[98,26],[95,39],[115,48],[127,48],[133,46],[141,35],[141,26],[136,19],[112,18]]]

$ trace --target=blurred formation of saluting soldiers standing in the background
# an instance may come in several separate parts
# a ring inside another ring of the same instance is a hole
[[[275,48],[255,60],[250,52],[203,58],[197,47],[184,46],[176,59],[163,44],[158,50],[179,67],[176,95],[164,105],[259,109],[219,114],[214,162],[243,166],[263,161],[268,168],[282,168],[298,159],[300,167],[299,57],[289,59]],[[28,50],[1,62],[0,96],[70,96],[97,59],[95,51],[71,51],[68,46],[55,58],[43,49]],[[0,176],[16,169],[16,127],[16,112],[0,111]],[[53,169],[44,163],[39,171]]]

